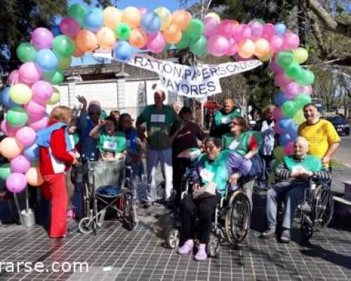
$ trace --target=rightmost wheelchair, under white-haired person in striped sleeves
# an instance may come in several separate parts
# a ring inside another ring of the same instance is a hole
[[[326,228],[333,217],[333,195],[329,185],[323,181],[310,180],[310,188],[305,189],[300,211],[300,232],[305,239],[312,238],[315,231]]]

